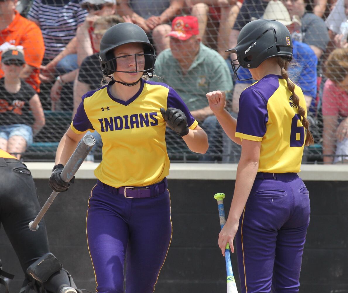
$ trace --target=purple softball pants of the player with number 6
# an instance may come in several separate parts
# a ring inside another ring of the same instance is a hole
[[[242,293],[299,292],[309,214],[296,173],[256,175],[236,234]]]

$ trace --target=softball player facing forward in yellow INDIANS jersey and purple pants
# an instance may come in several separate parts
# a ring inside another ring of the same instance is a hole
[[[63,136],[49,184],[65,191],[60,172],[87,130],[100,133],[103,161],[88,201],[86,231],[96,291],[153,292],[172,237],[166,176],[166,123],[193,152],[205,153],[206,133],[179,95],[152,77],[155,52],[146,33],[132,23],[108,29],[100,44],[108,85],[87,92]]]

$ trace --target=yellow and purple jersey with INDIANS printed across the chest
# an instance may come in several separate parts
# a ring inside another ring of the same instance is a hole
[[[103,160],[95,176],[113,187],[146,186],[169,174],[164,121],[160,108],[177,108],[190,129],[198,122],[179,95],[164,83],[141,79],[139,91],[128,101],[114,98],[110,86],[82,97],[71,123],[75,133],[97,131],[103,142]]]

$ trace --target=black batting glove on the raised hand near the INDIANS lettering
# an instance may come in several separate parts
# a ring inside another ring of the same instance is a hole
[[[175,108],[168,108],[167,110],[160,108],[159,110],[168,126],[177,134],[184,136],[189,133],[187,118],[183,111]]]

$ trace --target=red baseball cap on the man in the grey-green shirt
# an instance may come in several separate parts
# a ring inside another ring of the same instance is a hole
[[[173,19],[172,31],[166,37],[171,36],[184,41],[197,34],[199,34],[197,17],[177,16]]]

